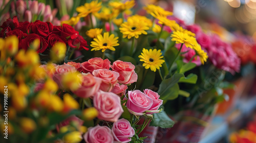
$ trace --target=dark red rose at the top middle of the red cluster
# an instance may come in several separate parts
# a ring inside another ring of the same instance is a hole
[[[42,36],[44,38],[50,34],[50,30],[52,29],[52,23],[42,22],[40,20],[36,20],[31,26],[31,30],[33,33],[38,34],[39,36]]]

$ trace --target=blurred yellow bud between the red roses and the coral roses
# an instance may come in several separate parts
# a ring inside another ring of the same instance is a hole
[[[51,49],[50,56],[53,61],[61,61],[65,58],[67,46],[63,42],[56,42]]]

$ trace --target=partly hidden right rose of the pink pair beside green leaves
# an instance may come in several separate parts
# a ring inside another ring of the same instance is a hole
[[[144,89],[144,93],[150,97],[153,101],[153,105],[150,107],[150,111],[155,111],[155,110],[158,110],[159,107],[163,104],[163,100],[159,99],[160,96],[158,95],[157,92],[154,92],[150,89]],[[155,112],[149,112],[148,114],[153,114],[153,113],[158,113],[158,111],[155,111]]]

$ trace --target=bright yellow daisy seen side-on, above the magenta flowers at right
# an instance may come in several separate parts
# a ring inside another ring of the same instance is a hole
[[[194,49],[193,47],[198,44],[195,37],[180,31],[174,31],[170,37],[172,37],[172,41],[176,41],[177,44],[184,43],[186,47],[190,47],[191,49]]]

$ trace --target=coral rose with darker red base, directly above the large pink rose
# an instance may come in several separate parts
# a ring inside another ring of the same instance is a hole
[[[81,85],[76,91],[73,91],[77,97],[90,98],[99,90],[101,79],[94,77],[90,73],[81,75]]]

